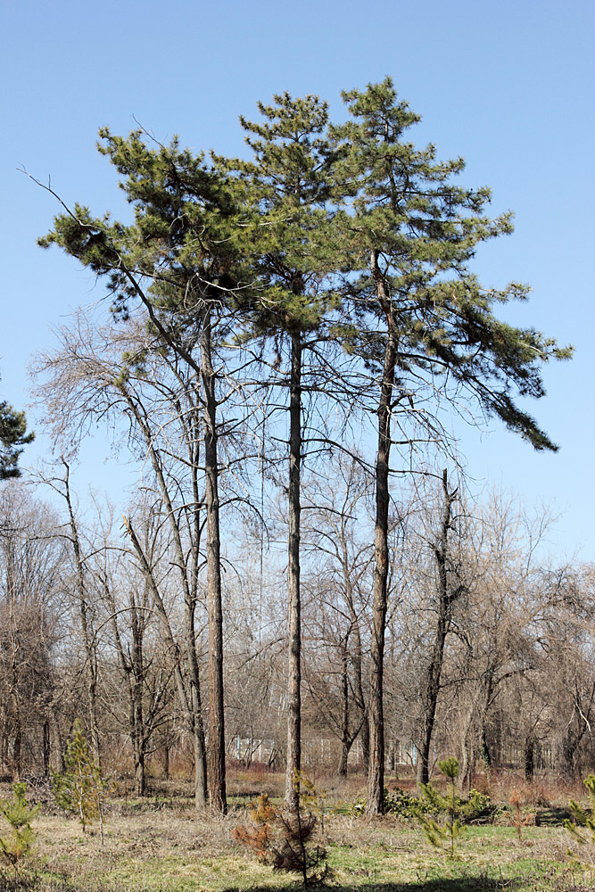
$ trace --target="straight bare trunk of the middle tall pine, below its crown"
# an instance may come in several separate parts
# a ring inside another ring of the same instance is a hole
[[[300,603],[300,471],[302,465],[302,339],[292,335],[289,403],[289,536],[288,536],[288,691],[285,801],[292,811],[300,802],[297,772],[302,765],[301,740],[301,603]]]

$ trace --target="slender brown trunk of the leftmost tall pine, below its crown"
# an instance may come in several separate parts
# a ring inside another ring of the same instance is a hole
[[[204,394],[205,506],[207,512],[207,588],[209,603],[209,797],[211,809],[227,813],[225,783],[225,716],[223,706],[223,611],[219,536],[219,462],[217,399],[211,359],[211,313],[202,323],[202,390]]]

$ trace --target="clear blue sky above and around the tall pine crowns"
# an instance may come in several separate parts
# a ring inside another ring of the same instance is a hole
[[[535,454],[492,425],[490,436],[466,434],[467,469],[566,511],[552,549],[595,558],[594,25],[592,0],[376,0],[368,9],[360,0],[4,0],[0,395],[27,404],[31,354],[51,346],[51,326],[71,308],[101,296],[74,261],[36,247],[56,208],[19,165],[51,175],[67,202],[120,211],[112,169],[95,152],[101,125],[125,133],[135,116],[162,140],[178,133],[196,150],[241,153],[237,117],[257,100],[316,93],[338,116],[342,89],[390,74],[423,116],[416,141],[463,154],[465,182],[492,187],[494,213],[516,211],[515,235],[476,263],[487,285],[533,285],[508,318],[576,346],[571,363],[546,369],[548,396],[532,407],[558,455]],[[100,488],[116,475],[110,463],[87,473]]]

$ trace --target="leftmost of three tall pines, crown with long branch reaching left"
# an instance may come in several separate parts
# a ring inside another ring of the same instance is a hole
[[[128,137],[100,131],[100,151],[121,176],[120,186],[134,207],[124,225],[108,216],[95,218],[75,205],[54,219],[54,230],[39,240],[58,244],[106,278],[112,313],[128,318],[140,303],[150,319],[155,350],[167,351],[192,369],[202,384],[202,436],[205,468],[206,556],[209,614],[209,792],[211,807],[227,809],[223,709],[223,634],[219,535],[219,399],[213,353],[217,339],[229,334],[231,295],[240,287],[236,251],[240,232],[233,180],[194,155],[168,146],[147,145],[142,131]],[[125,360],[142,365],[142,352]],[[125,370],[124,370],[125,376]],[[125,381],[122,381],[122,385]],[[196,428],[198,430],[199,424]],[[198,494],[196,493],[196,496]],[[195,528],[202,528],[196,498]],[[175,533],[174,533],[175,534]],[[193,601],[193,603],[190,603]],[[201,737],[199,671],[194,649],[194,600],[186,596],[187,657],[191,666],[191,711]],[[206,801],[204,743],[196,745],[196,803]]]

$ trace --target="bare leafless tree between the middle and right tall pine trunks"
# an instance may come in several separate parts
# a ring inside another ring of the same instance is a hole
[[[321,466],[305,487],[304,511],[306,678],[313,708],[341,740],[337,772],[345,775],[359,735],[368,765],[364,666],[372,549],[361,459],[341,454]]]

